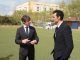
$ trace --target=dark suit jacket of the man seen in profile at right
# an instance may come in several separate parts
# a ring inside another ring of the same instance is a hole
[[[71,28],[62,23],[54,34],[54,57],[69,58],[73,49],[73,39]]]

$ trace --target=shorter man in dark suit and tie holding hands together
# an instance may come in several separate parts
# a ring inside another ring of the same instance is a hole
[[[19,60],[35,60],[34,45],[38,43],[39,38],[37,36],[34,27],[30,26],[30,17],[27,15],[21,18],[23,26],[17,29],[15,42],[20,45]]]

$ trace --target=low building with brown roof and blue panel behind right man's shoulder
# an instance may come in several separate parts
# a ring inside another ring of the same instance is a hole
[[[80,18],[77,17],[69,17],[65,18],[64,21],[71,26],[72,29],[79,29],[80,28]]]

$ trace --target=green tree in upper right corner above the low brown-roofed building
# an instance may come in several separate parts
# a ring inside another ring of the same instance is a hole
[[[71,0],[68,5],[70,16],[80,17],[80,0]]]

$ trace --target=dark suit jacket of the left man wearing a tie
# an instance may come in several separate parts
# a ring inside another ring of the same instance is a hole
[[[35,28],[32,27],[32,26],[29,26],[29,30],[30,30],[29,35],[27,35],[25,33],[25,30],[24,30],[24,27],[23,26],[17,29],[15,42],[16,42],[16,44],[19,44],[20,47],[27,47],[28,45],[30,45],[29,43],[28,44],[23,44],[22,43],[22,40],[23,39],[27,39],[27,38],[29,40],[31,40],[31,41],[32,40],[36,40],[37,43],[38,43],[39,38],[37,36],[37,33],[36,33]]]

